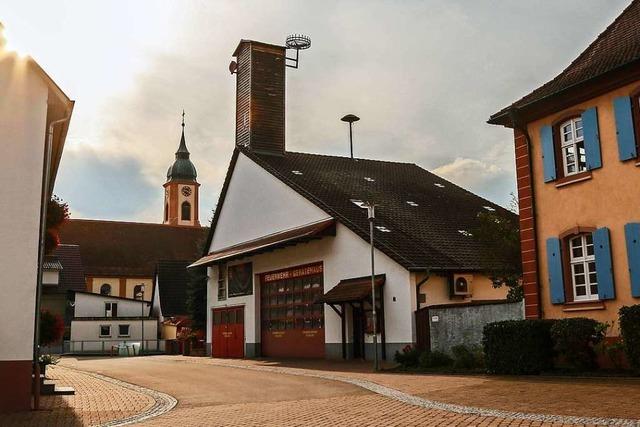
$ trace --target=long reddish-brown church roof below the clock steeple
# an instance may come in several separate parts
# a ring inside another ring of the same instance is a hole
[[[60,240],[80,246],[87,275],[153,277],[159,260],[198,258],[206,232],[200,227],[72,219],[60,230]]]

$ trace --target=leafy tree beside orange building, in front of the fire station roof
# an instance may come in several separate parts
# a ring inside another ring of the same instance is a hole
[[[516,211],[518,204],[515,196],[511,196],[511,210]],[[484,269],[493,281],[493,286],[507,286],[507,300],[521,301],[524,292],[518,218],[498,215],[495,212],[480,212],[472,234],[480,243]]]

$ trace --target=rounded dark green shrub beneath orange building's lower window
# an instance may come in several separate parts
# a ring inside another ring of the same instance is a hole
[[[551,327],[553,348],[571,369],[596,369],[594,346],[603,340],[606,330],[606,324],[586,317],[558,320]]]

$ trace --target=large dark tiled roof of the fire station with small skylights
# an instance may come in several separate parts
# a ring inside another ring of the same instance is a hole
[[[475,228],[485,206],[515,218],[415,164],[292,152],[243,153],[367,241],[366,211],[351,200],[374,202],[376,225],[391,230],[375,230],[376,247],[409,269],[481,270],[485,263],[480,245],[459,230]]]

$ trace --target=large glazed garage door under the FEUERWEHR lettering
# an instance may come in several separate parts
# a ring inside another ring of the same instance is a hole
[[[262,354],[324,357],[322,264],[261,276]]]

